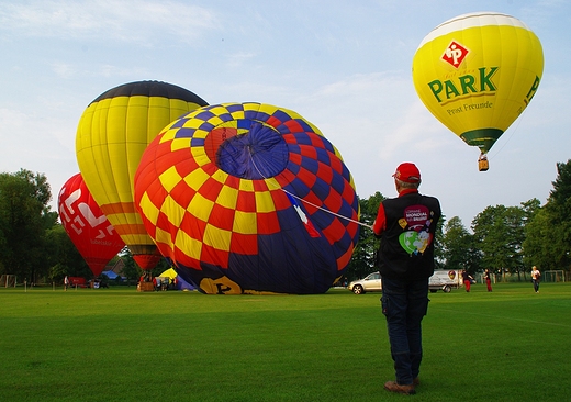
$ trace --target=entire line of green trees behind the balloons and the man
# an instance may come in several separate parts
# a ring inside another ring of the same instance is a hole
[[[545,205],[538,199],[517,206],[486,206],[466,227],[458,216],[440,220],[436,234],[439,269],[490,269],[526,279],[536,265],[541,270],[571,267],[571,159],[557,164],[557,178]],[[360,222],[372,225],[384,196],[376,192],[360,199]],[[52,192],[43,174],[21,169],[0,174],[0,275],[16,275],[19,281],[60,282],[67,276],[91,278],[92,273],[52,211]],[[444,211],[445,212],[445,211]],[[348,280],[376,270],[379,241],[361,226],[359,242],[346,270]],[[125,248],[124,275],[136,279],[141,269]],[[163,261],[154,273],[168,268]],[[156,272],[155,272],[156,271]],[[159,272],[160,271],[160,272]]]

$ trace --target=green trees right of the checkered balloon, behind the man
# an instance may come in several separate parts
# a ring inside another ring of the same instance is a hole
[[[571,159],[557,164],[557,178],[547,202],[538,199],[517,206],[486,206],[466,227],[460,217],[443,215],[436,234],[437,269],[466,269],[474,275],[484,269],[496,275],[516,275],[526,280],[531,266],[540,270],[571,269]],[[371,225],[384,197],[377,192],[361,199],[360,222]],[[443,211],[445,213],[445,211]],[[376,270],[379,241],[361,226],[359,243],[346,276],[363,278]]]

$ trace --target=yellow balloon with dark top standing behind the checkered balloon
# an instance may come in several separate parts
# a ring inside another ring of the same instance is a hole
[[[161,257],[133,204],[133,179],[141,156],[168,123],[205,104],[197,94],[171,83],[138,81],[102,93],[79,120],[79,170],[143,269],[152,269]]]

